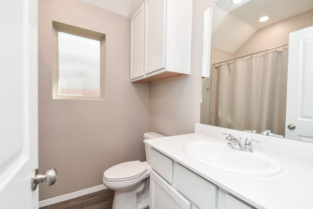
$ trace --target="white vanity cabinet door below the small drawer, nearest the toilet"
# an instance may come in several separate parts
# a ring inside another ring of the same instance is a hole
[[[191,203],[153,170],[150,172],[151,209],[191,209]]]

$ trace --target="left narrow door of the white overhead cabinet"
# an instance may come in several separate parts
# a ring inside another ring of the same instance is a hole
[[[144,3],[131,18],[131,79],[143,76]]]

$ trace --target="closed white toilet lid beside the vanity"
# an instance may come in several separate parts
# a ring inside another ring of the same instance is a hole
[[[147,167],[140,161],[129,161],[110,167],[103,173],[105,180],[119,182],[135,179],[147,172]]]

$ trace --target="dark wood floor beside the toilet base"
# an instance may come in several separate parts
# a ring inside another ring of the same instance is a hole
[[[40,209],[112,209],[113,196],[114,191],[104,189]]]

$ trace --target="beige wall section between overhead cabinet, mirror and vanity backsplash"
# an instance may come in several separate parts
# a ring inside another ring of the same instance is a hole
[[[193,133],[200,123],[203,11],[213,1],[193,0],[191,74],[150,84],[150,130],[179,135]]]

